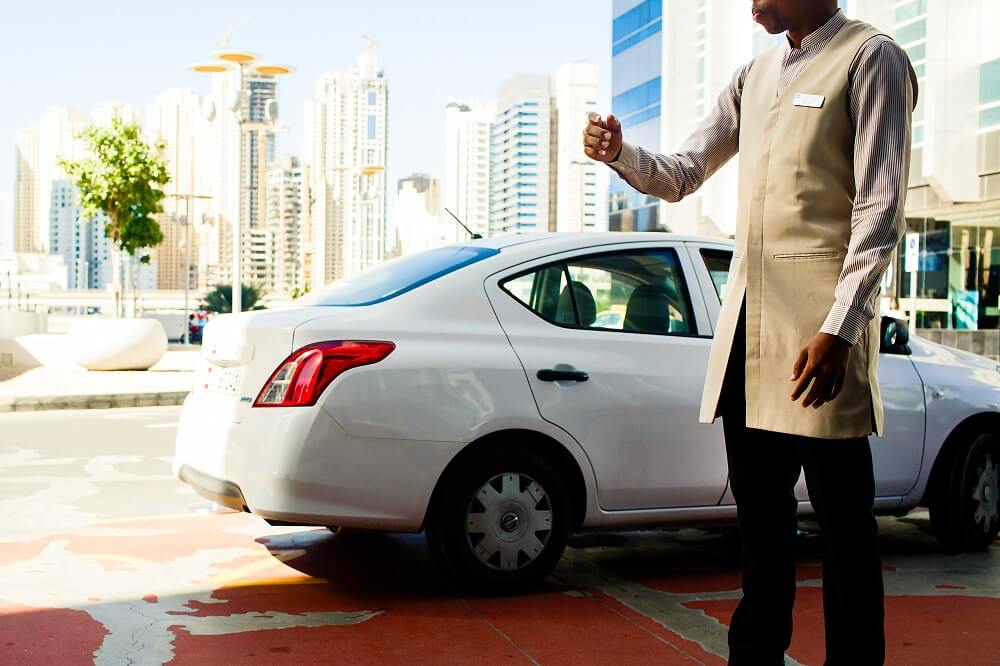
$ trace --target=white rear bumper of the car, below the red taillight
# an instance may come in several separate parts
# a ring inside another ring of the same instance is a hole
[[[321,406],[253,409],[195,391],[181,410],[174,474],[263,518],[412,532],[462,446],[355,437]]]

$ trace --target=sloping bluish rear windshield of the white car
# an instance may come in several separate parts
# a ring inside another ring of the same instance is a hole
[[[303,305],[371,305],[388,300],[442,275],[464,268],[499,250],[450,245],[388,261],[351,278],[332,282],[303,298]]]

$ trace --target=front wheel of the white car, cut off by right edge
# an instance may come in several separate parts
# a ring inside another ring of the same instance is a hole
[[[1000,533],[1000,439],[976,434],[947,464],[930,498],[931,527],[949,550],[984,550]]]

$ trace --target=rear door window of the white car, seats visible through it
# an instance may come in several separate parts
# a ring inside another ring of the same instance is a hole
[[[670,249],[591,255],[503,283],[544,319],[564,326],[697,333],[677,254]]]

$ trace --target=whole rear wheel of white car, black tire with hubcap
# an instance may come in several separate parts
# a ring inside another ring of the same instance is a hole
[[[426,536],[435,560],[460,587],[509,594],[555,568],[572,516],[566,484],[547,460],[524,449],[490,449],[443,483]]]

